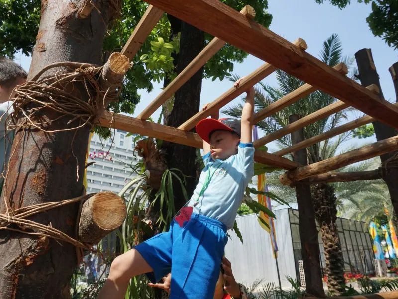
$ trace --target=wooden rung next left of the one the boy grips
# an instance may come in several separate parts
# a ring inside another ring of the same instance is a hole
[[[248,18],[254,18],[256,12],[253,7],[246,5],[241,11],[244,16]],[[166,102],[170,97],[187,82],[199,69],[206,64],[224,45],[225,41],[215,37],[208,45],[191,61],[189,65],[183,71],[178,74],[178,76],[170,82],[169,85],[153,100],[139,115],[138,118],[142,120],[147,120],[152,113],[156,111],[164,102]]]

